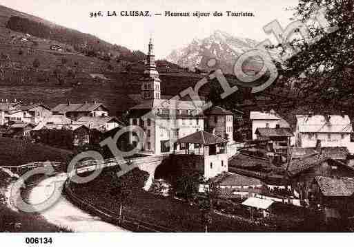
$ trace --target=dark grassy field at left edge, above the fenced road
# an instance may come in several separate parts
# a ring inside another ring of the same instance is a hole
[[[17,166],[30,162],[68,162],[71,152],[12,138],[0,138],[0,165]]]

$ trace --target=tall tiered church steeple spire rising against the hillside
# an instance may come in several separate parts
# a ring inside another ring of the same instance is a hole
[[[146,67],[144,71],[141,94],[144,99],[161,98],[159,72],[155,65],[153,39],[150,38],[148,44],[148,55],[146,56]]]

